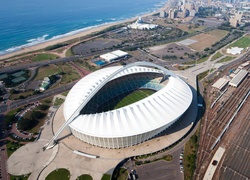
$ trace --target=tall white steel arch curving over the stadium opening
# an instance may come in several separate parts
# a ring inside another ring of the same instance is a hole
[[[115,71],[114,73],[112,73],[110,76],[108,76],[106,79],[104,79],[100,84],[98,84],[93,91],[91,91],[91,93],[86,97],[86,99],[84,100],[84,102],[74,111],[74,113],[70,116],[70,118],[65,121],[63,123],[63,125],[60,127],[60,129],[56,132],[56,134],[52,137],[52,139],[45,145],[46,149],[49,149],[51,147],[54,146],[54,141],[56,140],[56,138],[60,135],[60,133],[63,131],[63,129],[68,126],[71,122],[73,122],[75,120],[75,118],[79,115],[80,111],[82,110],[82,108],[84,108],[87,103],[96,95],[96,93],[105,85],[107,84],[111,79],[113,79],[117,74],[121,73],[122,71],[130,68],[130,67],[134,67],[134,66],[149,66],[149,67],[156,67],[160,70],[163,71],[164,76],[170,75],[173,77],[176,77],[176,75],[174,73],[172,73],[171,71],[157,65],[151,62],[135,62],[132,64],[128,64],[126,66],[124,66],[123,68],[118,69],[117,71]]]

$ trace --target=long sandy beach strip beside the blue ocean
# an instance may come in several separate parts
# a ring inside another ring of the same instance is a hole
[[[170,1],[171,0],[167,1],[161,8],[159,8],[159,9],[153,11],[153,12],[143,14],[143,15],[141,15],[141,17],[147,17],[147,16],[153,15],[155,13],[159,13],[161,10],[165,10],[168,7]],[[7,59],[7,58],[11,58],[13,56],[21,55],[23,53],[38,51],[38,50],[44,49],[44,48],[46,48],[48,46],[52,46],[52,45],[55,45],[55,44],[63,43],[65,41],[80,38],[80,37],[92,34],[94,32],[102,31],[102,30],[104,30],[106,28],[109,28],[109,27],[112,27],[112,26],[115,26],[115,25],[127,23],[127,22],[130,22],[130,21],[135,21],[136,19],[137,19],[137,17],[132,17],[132,18],[129,18],[129,19],[126,19],[126,20],[112,22],[112,23],[108,23],[108,24],[103,24],[103,25],[100,25],[100,26],[97,26],[97,27],[86,29],[86,30],[83,30],[82,32],[78,32],[78,33],[73,34],[73,35],[64,36],[64,37],[61,37],[61,38],[58,38],[58,39],[47,40],[46,42],[42,42],[42,43],[39,43],[39,44],[36,44],[36,45],[33,45],[33,46],[25,47],[23,49],[20,49],[20,50],[14,51],[14,52],[10,52],[10,53],[7,53],[7,54],[0,55],[0,60],[4,60],[4,59]]]

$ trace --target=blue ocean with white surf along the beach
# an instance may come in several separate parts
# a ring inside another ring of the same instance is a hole
[[[1,0],[0,55],[153,12],[166,0]]]

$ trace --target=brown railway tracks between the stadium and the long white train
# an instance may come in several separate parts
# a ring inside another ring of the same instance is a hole
[[[216,103],[213,109],[208,109],[202,124],[199,155],[197,159],[197,172],[203,174],[202,166],[206,166],[211,155],[211,146],[216,141],[230,118],[238,108],[240,102],[250,89],[250,78],[246,78],[241,85],[229,96],[223,104]],[[203,176],[202,176],[203,177]],[[202,178],[201,176],[198,178]]]

